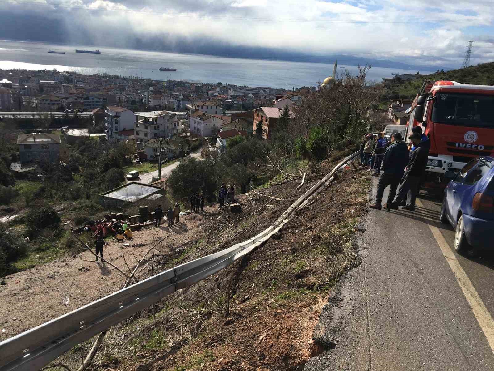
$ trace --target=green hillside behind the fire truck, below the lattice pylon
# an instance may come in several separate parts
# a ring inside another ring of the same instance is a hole
[[[465,69],[436,72],[413,81],[398,81],[386,88],[383,99],[398,97],[412,99],[420,90],[424,79],[432,81],[453,80],[462,84],[494,85],[494,62],[478,64]]]

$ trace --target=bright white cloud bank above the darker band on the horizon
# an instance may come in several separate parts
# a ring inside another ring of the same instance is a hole
[[[468,2],[468,11],[464,0],[42,2],[45,9],[47,4],[59,4],[59,9],[69,12],[68,24],[85,24],[93,38],[101,41],[115,39],[124,43],[129,34],[145,38],[167,33],[201,37],[205,42],[214,39],[231,45],[276,47],[318,55],[347,53],[457,65],[463,58],[466,41],[473,38],[484,40],[486,49],[483,52],[479,48],[472,60],[491,60],[492,54],[487,48],[492,45],[488,27],[494,19],[492,0]],[[26,6],[25,2],[19,1],[19,6]],[[485,32],[481,28],[472,33],[472,26],[484,27]]]

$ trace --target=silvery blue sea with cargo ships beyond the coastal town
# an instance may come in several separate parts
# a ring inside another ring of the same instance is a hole
[[[75,49],[99,49],[101,54],[76,53]],[[50,54],[48,50],[65,51],[65,54]],[[160,71],[160,67],[176,68],[177,71]],[[0,40],[0,69],[16,68],[292,89],[316,86],[332,74],[333,64]],[[357,66],[340,65],[337,70],[343,73],[345,69],[357,73]],[[384,77],[392,77],[392,73],[416,71],[372,67],[367,80],[380,82]],[[8,78],[0,76],[0,80],[3,77]]]

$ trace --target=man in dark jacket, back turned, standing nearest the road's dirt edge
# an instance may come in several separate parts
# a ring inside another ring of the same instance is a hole
[[[370,207],[372,209],[381,210],[381,200],[384,194],[384,189],[389,187],[388,201],[384,205],[386,209],[391,209],[391,204],[396,195],[396,188],[403,177],[405,166],[409,161],[409,151],[407,144],[402,140],[400,133],[393,135],[393,142],[386,149],[382,160],[382,175],[377,183],[377,193],[375,203]]]

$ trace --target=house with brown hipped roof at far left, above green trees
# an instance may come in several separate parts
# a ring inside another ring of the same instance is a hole
[[[60,143],[60,136],[55,134],[19,134],[19,160],[21,164],[43,160],[56,163],[60,159]]]

